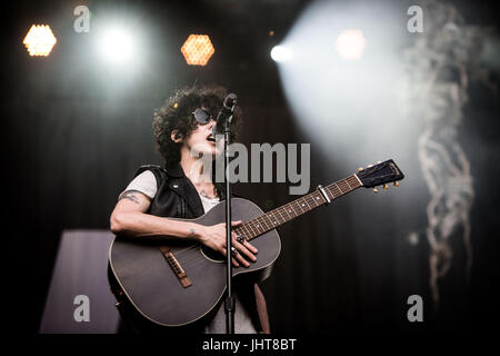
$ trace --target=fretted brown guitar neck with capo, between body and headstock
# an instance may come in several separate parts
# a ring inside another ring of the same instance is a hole
[[[359,187],[362,184],[356,175],[352,175],[342,180],[332,182],[323,188],[323,192],[331,201],[337,199]],[[269,230],[272,230],[284,222],[294,219],[302,214],[306,214],[319,206],[328,204],[329,201],[323,194],[318,189],[299,199],[290,201],[279,208],[276,208],[264,215],[249,220],[233,229],[237,235],[243,235],[247,240],[251,240]]]

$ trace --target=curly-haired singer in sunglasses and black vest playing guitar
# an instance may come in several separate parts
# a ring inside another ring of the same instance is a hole
[[[177,90],[153,115],[153,134],[163,167],[142,166],[119,195],[111,214],[111,230],[117,236],[147,239],[194,239],[211,250],[227,256],[226,224],[203,226],[189,220],[202,216],[226,199],[223,184],[203,171],[201,158],[216,158],[220,149],[214,139],[216,118],[227,97],[221,87],[194,86]],[[237,138],[241,110],[237,108],[231,136]],[[232,221],[238,226],[241,221]],[[168,237],[167,237],[168,236]],[[257,249],[233,233],[232,264],[249,266],[257,260]],[[141,268],[148,268],[143,266]],[[121,315],[119,333],[226,333],[223,300],[196,323],[181,327],[166,327],[148,320],[132,306],[113,274],[108,273],[111,290]],[[234,330],[240,334],[269,333],[266,299],[254,280],[234,280]]]

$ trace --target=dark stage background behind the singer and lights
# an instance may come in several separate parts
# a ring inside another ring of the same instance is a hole
[[[4,295],[7,305],[16,305],[7,310],[12,326],[30,333],[39,328],[61,231],[107,229],[117,196],[137,167],[161,164],[152,111],[173,89],[199,82],[237,92],[246,112],[243,144],[308,142],[269,52],[309,1],[87,2],[96,18],[109,9],[130,12],[136,26],[147,28],[147,65],[134,76],[117,76],[96,63],[92,32],[72,29],[72,10],[82,3],[27,2],[3,13],[9,23],[2,39],[3,226],[4,239],[16,246],[3,249]],[[483,1],[453,3],[469,23],[493,26],[498,18]],[[58,43],[50,57],[27,55],[21,42],[31,23],[49,23],[54,31]],[[189,33],[198,32],[216,46],[201,68],[187,66],[180,52]],[[498,75],[492,78],[498,83]],[[423,235],[429,192],[414,154],[399,162],[411,172],[399,190],[356,191],[279,229],[282,253],[262,284],[273,332],[491,330],[490,322],[499,317],[499,103],[498,95],[480,83],[469,95],[460,141],[476,189],[470,283],[463,246],[452,240],[452,268],[440,283],[439,308],[432,304]],[[311,189],[357,168],[311,144]],[[418,189],[404,191],[406,185]],[[236,190],[264,211],[296,198],[288,184],[240,184]],[[417,246],[407,240],[412,230],[422,231]],[[412,294],[424,300],[424,323],[407,320]]]

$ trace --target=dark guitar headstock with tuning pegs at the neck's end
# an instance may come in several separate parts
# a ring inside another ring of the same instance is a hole
[[[382,186],[383,189],[388,189],[388,184],[393,182],[398,187],[398,180],[404,178],[401,169],[396,165],[392,159],[377,165],[370,165],[367,168],[359,168],[356,174],[366,188],[373,188],[373,191],[378,191],[377,186]]]

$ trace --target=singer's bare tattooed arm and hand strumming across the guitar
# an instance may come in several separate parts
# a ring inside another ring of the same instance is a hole
[[[151,199],[144,194],[136,190],[123,191],[111,214],[111,231],[137,238],[147,235],[192,238],[226,256],[224,222],[214,226],[203,226],[191,221],[158,217],[146,214],[150,205]],[[232,221],[231,225],[237,226],[239,224],[241,221]],[[257,249],[248,241],[243,244],[238,243],[236,237],[233,233],[232,244],[239,251],[236,259],[232,259],[233,265],[239,266],[239,263],[241,263],[243,266],[249,266],[247,259],[256,260],[257,258],[253,254],[257,253]]]

